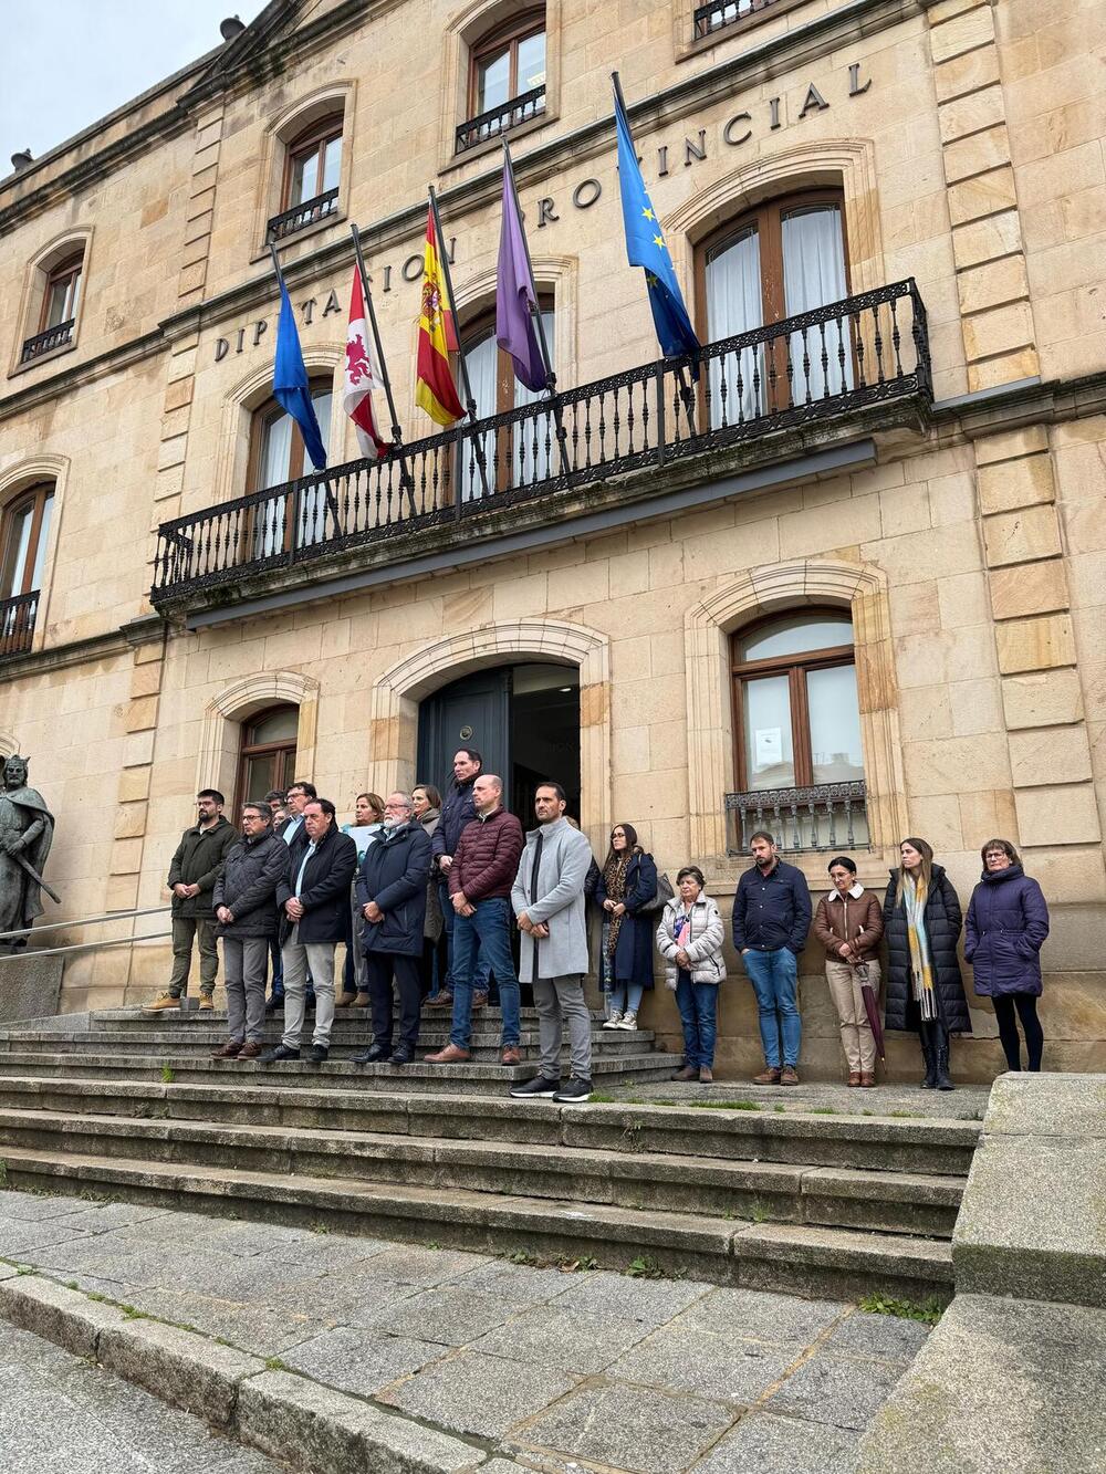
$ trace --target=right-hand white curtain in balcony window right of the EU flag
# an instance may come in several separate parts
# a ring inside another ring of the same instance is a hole
[[[841,209],[818,205],[783,217],[783,292],[787,317],[811,312],[846,295],[845,252],[841,240]],[[827,355],[823,370],[821,354]],[[836,321],[790,335],[795,404],[821,399],[852,388],[852,354],[848,332],[844,338],[845,364],[841,364],[842,335]],[[810,367],[804,367],[804,352]]]

